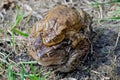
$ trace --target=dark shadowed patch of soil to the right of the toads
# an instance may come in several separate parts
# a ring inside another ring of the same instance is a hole
[[[59,78],[73,77],[77,80],[118,80],[120,78],[120,45],[113,51],[117,33],[105,28],[96,28],[93,53],[85,62],[70,73],[57,73]],[[118,42],[120,44],[120,41]]]

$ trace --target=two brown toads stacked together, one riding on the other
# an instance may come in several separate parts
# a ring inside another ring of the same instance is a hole
[[[58,5],[31,29],[29,54],[43,66],[58,71],[77,68],[91,48],[92,18],[82,9]]]

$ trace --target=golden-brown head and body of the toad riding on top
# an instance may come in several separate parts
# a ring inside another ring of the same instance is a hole
[[[41,25],[37,31],[33,31],[34,35],[41,32],[44,45],[53,46],[60,43],[64,38],[73,41],[73,46],[77,43],[71,36],[74,36],[82,26],[85,25],[80,13],[71,7],[59,5],[51,9],[45,19],[37,25]],[[36,33],[36,34],[35,34]],[[78,37],[79,38],[79,37]]]

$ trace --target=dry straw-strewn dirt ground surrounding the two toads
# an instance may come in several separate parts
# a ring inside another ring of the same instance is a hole
[[[10,2],[8,2],[10,1]],[[69,73],[52,73],[48,80],[75,78],[76,80],[119,80],[120,79],[120,16],[117,9],[119,3],[110,3],[111,0],[1,0],[0,2],[0,80],[10,80],[7,77],[9,65],[12,71],[21,73],[22,62],[33,61],[37,76],[44,76],[49,68],[39,66],[29,55],[24,43],[27,37],[14,34],[14,46],[11,46],[12,26],[16,22],[18,11],[24,13],[17,29],[29,33],[32,25],[44,18],[46,12],[57,4],[82,8],[93,16],[92,27],[97,33],[93,39],[93,53],[76,70]],[[13,1],[13,2],[12,2]],[[65,2],[66,1],[66,2]],[[71,2],[72,1],[72,2]],[[105,3],[105,4],[104,4]],[[18,7],[18,9],[16,8]],[[24,64],[26,74],[32,74],[30,64]],[[39,70],[40,69],[40,70]],[[22,80],[19,74],[16,80]],[[14,79],[13,79],[14,80]],[[24,80],[32,80],[25,76]],[[39,80],[39,79],[34,79]],[[67,80],[67,79],[64,79]],[[74,80],[74,79],[70,79]]]

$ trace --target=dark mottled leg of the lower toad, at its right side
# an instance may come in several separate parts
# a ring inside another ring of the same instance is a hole
[[[76,69],[81,61],[85,58],[90,50],[90,43],[88,39],[84,39],[78,44],[77,48],[69,53],[69,59],[66,64],[58,68],[60,72],[69,72]]]

